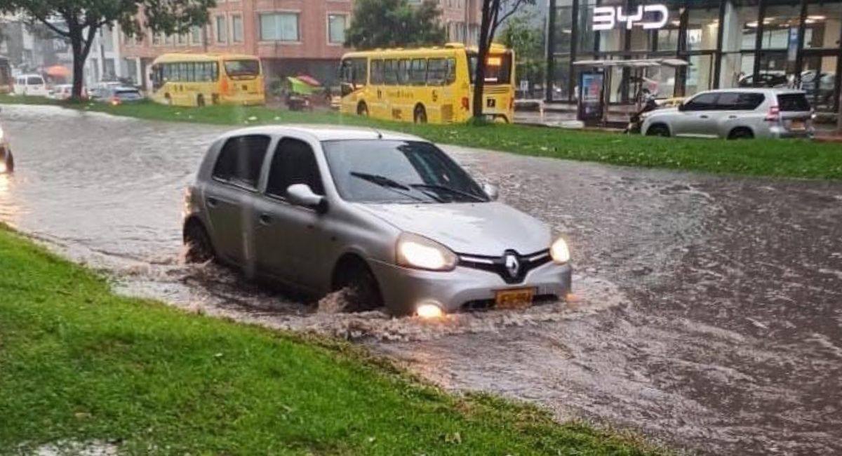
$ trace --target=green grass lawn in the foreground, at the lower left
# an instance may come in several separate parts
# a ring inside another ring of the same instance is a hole
[[[446,395],[342,342],[116,296],[0,225],[0,454],[93,440],[130,454],[663,454]]]

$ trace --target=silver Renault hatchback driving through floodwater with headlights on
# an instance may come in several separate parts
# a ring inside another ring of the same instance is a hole
[[[216,140],[184,201],[189,260],[422,316],[564,298],[568,246],[438,147],[370,129],[265,126]]]

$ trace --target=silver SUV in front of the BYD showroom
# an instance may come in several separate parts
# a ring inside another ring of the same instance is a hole
[[[695,94],[678,108],[658,109],[643,120],[644,135],[733,139],[813,135],[807,94],[775,88],[733,88]]]

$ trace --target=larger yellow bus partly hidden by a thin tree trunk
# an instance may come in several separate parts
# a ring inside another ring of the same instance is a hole
[[[342,57],[340,110],[345,114],[450,124],[472,117],[477,50],[461,43],[421,49],[350,52]],[[486,60],[483,114],[511,122],[514,53],[492,45]]]

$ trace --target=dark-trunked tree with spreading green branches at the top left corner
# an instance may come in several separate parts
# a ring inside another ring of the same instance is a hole
[[[153,32],[184,33],[193,25],[206,24],[207,10],[215,5],[215,0],[0,0],[0,12],[21,14],[70,41],[72,96],[79,98],[85,59],[101,27],[116,23],[130,35],[141,34],[144,25]]]

